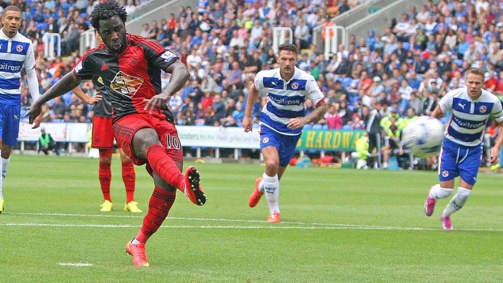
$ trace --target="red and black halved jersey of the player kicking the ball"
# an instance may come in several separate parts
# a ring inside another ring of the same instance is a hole
[[[76,78],[90,80],[101,77],[106,91],[104,97],[112,104],[113,121],[133,113],[145,111],[144,99],[161,93],[161,69],[166,69],[178,56],[159,43],[134,34],[127,34],[127,47],[116,55],[108,52],[105,44],[91,49],[82,56],[73,69]],[[154,116],[173,122],[169,110]]]

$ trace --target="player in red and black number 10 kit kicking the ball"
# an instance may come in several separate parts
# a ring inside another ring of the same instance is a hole
[[[173,116],[166,109],[166,102],[185,85],[189,72],[177,55],[157,42],[126,33],[126,18],[126,11],[115,1],[94,7],[91,24],[104,44],[84,54],[73,72],[47,90],[27,115],[31,123],[47,101],[95,74],[103,79],[107,91],[102,95],[112,103],[115,139],[134,164],[147,163],[147,171],[154,180],[155,188],[142,228],[126,244],[134,265],[148,266],[145,242],[168,215],[176,188],[197,205],[203,205],[206,196],[194,166],[187,168],[185,176],[181,174],[182,146]],[[164,91],[161,90],[161,69],[171,74]]]

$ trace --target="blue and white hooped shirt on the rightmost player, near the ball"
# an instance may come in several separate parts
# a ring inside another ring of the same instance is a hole
[[[446,138],[464,146],[477,146],[482,142],[487,120],[493,114],[497,122],[503,121],[503,107],[491,92],[482,89],[482,95],[472,100],[467,87],[451,90],[440,100],[442,112],[452,110],[446,129]]]

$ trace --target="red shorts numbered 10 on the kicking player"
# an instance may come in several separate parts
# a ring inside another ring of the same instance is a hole
[[[139,129],[152,128],[157,132],[166,153],[174,161],[183,163],[183,152],[175,125],[148,114],[129,114],[113,123],[113,134],[117,144],[131,158],[134,164],[143,165],[146,160],[134,155],[133,137]]]

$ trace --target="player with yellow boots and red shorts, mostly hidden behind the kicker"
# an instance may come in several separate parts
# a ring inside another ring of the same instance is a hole
[[[94,37],[98,44],[103,43],[98,30],[94,30]],[[94,117],[92,119],[92,138],[91,147],[100,150],[100,167],[98,176],[100,179],[101,192],[103,193],[103,203],[100,205],[101,212],[109,212],[113,209],[113,202],[110,196],[110,181],[112,172],[110,165],[112,161],[113,149],[113,130],[112,130],[112,104],[107,96],[103,97],[100,93],[107,91],[100,76],[93,76],[92,83],[98,91],[94,97],[87,96],[82,89],[75,87],[73,93],[87,104],[94,105]],[[119,147],[122,161],[122,180],[126,187],[126,204],[124,210],[133,213],[142,213],[138,208],[138,202],[134,200],[134,185],[136,182],[136,173],[131,159]]]

